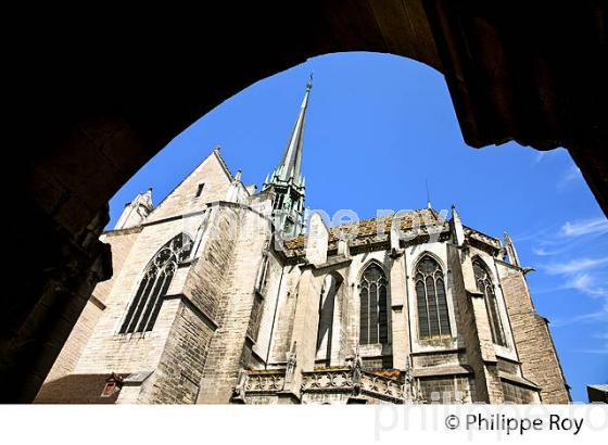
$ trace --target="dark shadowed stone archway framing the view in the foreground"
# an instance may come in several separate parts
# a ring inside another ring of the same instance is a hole
[[[2,402],[34,398],[94,284],[111,276],[98,241],[109,199],[221,101],[315,55],[390,52],[434,67],[469,145],[566,147],[608,212],[604,2],[268,3],[53,4],[14,16],[12,37],[27,39],[5,61],[16,260],[0,319]]]

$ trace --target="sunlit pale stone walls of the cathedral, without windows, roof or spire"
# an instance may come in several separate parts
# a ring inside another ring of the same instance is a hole
[[[203,190],[208,193],[204,200],[218,201],[204,203],[197,199],[198,185],[203,181]],[[301,393],[302,372],[315,367],[346,367],[355,351],[365,370],[406,370],[411,365],[428,403],[443,400],[442,396],[433,397],[433,393],[455,391],[464,391],[466,402],[525,399],[527,393],[518,392],[517,384],[516,389],[505,386],[499,371],[539,384],[544,391],[543,402],[558,392],[559,382],[543,368],[559,370],[553,344],[542,354],[532,348],[536,339],[549,344],[550,336],[533,312],[524,281],[517,281],[518,277],[523,280],[519,269],[519,275],[512,275],[515,268],[496,263],[491,252],[477,244],[458,246],[445,241],[397,244],[395,252],[379,242],[354,254],[346,245],[339,254],[331,251],[327,256],[327,233],[317,244],[306,243],[306,257],[302,259],[308,260],[294,260],[276,251],[270,242],[273,226],[263,211],[267,207],[263,196],[250,200],[240,194],[239,202],[224,201],[221,196],[230,195],[235,185],[238,181],[230,185],[219,155],[212,154],[143,226],[105,236],[113,243],[116,274],[96,289],[102,301],[93,298],[87,306],[73,345],[66,349],[65,359],[58,363],[58,372],[145,376],[125,385],[118,400],[122,403],[229,403],[242,368],[261,372],[283,368],[296,342],[295,372],[290,373],[288,391],[269,398],[264,394],[248,396],[245,402],[294,403],[303,397],[300,402],[347,403],[350,398],[342,395],[324,399]],[[324,227],[317,229],[322,231]],[[188,233],[194,240],[194,249],[192,257],[180,264],[174,276],[154,329],[119,334],[148,263],[178,233]],[[419,339],[417,330],[413,277],[423,255],[440,263],[446,285],[451,334],[438,341]],[[510,339],[507,346],[492,342],[484,298],[477,291],[472,274],[474,255],[483,257],[496,281],[505,333]],[[371,263],[382,267],[388,279],[389,341],[357,347],[358,282]],[[266,275],[261,281],[263,270]],[[331,318],[328,315],[325,319],[332,329],[325,345],[331,342],[331,347],[317,354],[319,301],[329,275],[340,283]],[[528,334],[532,336],[522,342],[520,336]],[[515,346],[519,349],[520,343],[524,354],[520,351],[518,357]],[[555,361],[541,364],[550,359],[549,353]],[[539,373],[548,379],[535,379]],[[447,398],[449,403],[463,402],[459,397]]]

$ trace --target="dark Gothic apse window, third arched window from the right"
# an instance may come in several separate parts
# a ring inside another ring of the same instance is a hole
[[[371,264],[359,282],[359,344],[388,343],[387,278]]]

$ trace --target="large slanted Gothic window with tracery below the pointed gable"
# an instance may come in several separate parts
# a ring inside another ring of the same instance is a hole
[[[145,267],[119,333],[145,332],[154,328],[177,265],[188,258],[191,249],[190,237],[180,233],[156,252]]]

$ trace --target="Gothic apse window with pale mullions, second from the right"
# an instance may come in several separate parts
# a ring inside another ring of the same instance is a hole
[[[416,267],[416,300],[420,339],[451,335],[443,271],[428,255]]]

